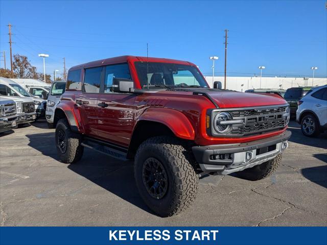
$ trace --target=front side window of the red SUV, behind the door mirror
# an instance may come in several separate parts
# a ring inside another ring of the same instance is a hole
[[[116,84],[120,79],[131,80],[131,74],[127,64],[106,66],[104,92],[112,92],[112,84]]]

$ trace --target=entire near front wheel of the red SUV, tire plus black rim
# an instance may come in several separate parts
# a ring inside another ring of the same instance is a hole
[[[138,148],[134,177],[148,207],[161,217],[189,208],[197,194],[198,177],[189,152],[169,136],[147,139]]]

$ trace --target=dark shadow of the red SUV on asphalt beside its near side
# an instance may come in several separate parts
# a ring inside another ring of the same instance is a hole
[[[30,134],[27,137],[30,140],[29,146],[59,161],[53,132]],[[78,163],[68,164],[67,168],[134,206],[154,214],[138,193],[134,180],[133,161],[116,160],[85,148],[82,159]]]

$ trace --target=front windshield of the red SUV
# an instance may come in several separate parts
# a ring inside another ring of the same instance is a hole
[[[135,62],[135,67],[142,87],[208,87],[198,69],[191,65]]]

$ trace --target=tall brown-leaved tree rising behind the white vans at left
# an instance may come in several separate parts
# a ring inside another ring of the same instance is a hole
[[[36,68],[31,65],[28,58],[24,55],[14,55],[13,70],[17,78],[35,77]]]

